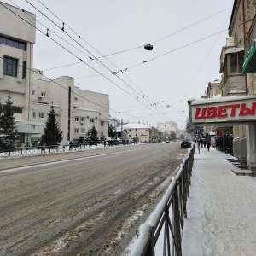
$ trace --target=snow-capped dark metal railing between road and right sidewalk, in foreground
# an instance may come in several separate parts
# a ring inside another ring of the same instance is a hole
[[[183,159],[177,175],[146,223],[137,230],[138,239],[131,256],[154,256],[155,245],[161,236],[162,255],[182,255],[182,232],[187,218],[187,199],[194,163],[195,143]],[[158,254],[159,255],[159,254]]]

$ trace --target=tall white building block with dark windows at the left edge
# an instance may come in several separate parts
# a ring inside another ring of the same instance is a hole
[[[35,25],[36,15],[1,2],[0,97],[2,104],[7,96],[12,97],[17,130],[24,143],[30,141],[31,134],[43,132],[42,124],[32,122],[30,113]]]

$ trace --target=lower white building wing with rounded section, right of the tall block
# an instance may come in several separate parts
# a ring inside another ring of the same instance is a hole
[[[63,143],[78,141],[94,125],[98,137],[107,137],[109,118],[108,95],[74,86],[71,77],[44,79],[37,72],[32,79],[32,120],[45,124],[50,106],[55,109],[56,119],[63,132]],[[32,135],[32,140],[38,139]]]

